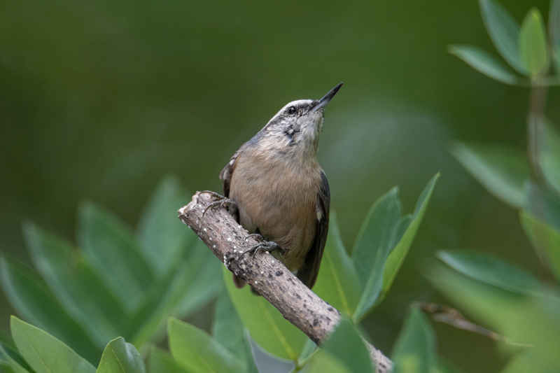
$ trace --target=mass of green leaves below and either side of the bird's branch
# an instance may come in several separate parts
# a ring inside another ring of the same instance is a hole
[[[140,349],[145,354],[149,350],[149,372],[256,373],[255,343],[297,369],[312,372],[329,362],[341,372],[373,372],[356,325],[391,287],[437,177],[428,182],[411,214],[400,216],[396,188],[379,198],[351,255],[332,213],[315,290],[346,317],[320,353],[267,300],[248,287],[235,288],[227,269],[220,276],[210,251],[169,214],[184,200],[172,178],[155,192],[136,235],[93,204],[80,209],[81,250],[27,223],[25,234],[40,276],[3,258],[2,285],[20,314],[37,327],[14,317],[15,346],[3,346],[0,363],[15,372],[93,372],[95,365],[96,372],[145,372]],[[211,335],[169,318],[170,353],[141,348],[157,339],[167,315],[185,316],[213,297],[223,287],[216,279],[222,278],[225,290],[216,303]]]

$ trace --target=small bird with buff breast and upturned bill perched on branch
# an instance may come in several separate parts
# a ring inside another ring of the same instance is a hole
[[[317,160],[319,135],[325,106],[342,84],[321,99],[283,106],[241,145],[219,176],[238,223],[260,240],[250,250],[253,255],[272,253],[308,288],[321,265],[330,209],[327,176]],[[233,277],[238,288],[245,285]]]

